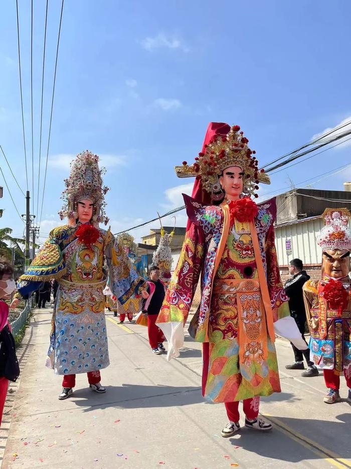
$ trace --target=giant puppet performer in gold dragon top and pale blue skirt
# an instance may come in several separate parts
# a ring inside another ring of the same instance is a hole
[[[110,230],[99,228],[99,222],[108,222],[104,212],[108,188],[102,186],[104,170],[99,169],[98,159],[86,151],[71,163],[60,212],[68,224],[51,231],[18,285],[17,295],[28,298],[42,282],[59,283],[47,359],[47,366],[63,375],[59,399],[72,395],[77,373],[88,374],[93,391],[106,391],[100,370],[109,365],[103,296],[107,274],[109,287],[122,304],[144,283]]]

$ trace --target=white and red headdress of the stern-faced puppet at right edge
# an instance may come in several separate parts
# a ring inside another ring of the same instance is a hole
[[[322,214],[324,225],[316,236],[317,245],[328,249],[351,250],[350,213],[347,208],[326,208]]]

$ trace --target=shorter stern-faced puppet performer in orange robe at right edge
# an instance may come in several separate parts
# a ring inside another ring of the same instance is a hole
[[[307,323],[311,333],[311,360],[323,370],[329,389],[323,401],[340,401],[340,375],[346,379],[351,403],[351,299],[350,299],[350,217],[346,208],[326,208],[324,224],[316,237],[322,249],[321,280],[303,286]]]

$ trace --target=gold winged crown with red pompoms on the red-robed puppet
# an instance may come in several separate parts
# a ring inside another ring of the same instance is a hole
[[[186,161],[183,166],[176,166],[178,177],[200,176],[203,188],[207,192],[221,192],[219,176],[229,166],[239,166],[244,173],[243,192],[254,195],[258,183],[270,184],[269,177],[264,170],[259,171],[255,151],[248,147],[248,139],[239,126],[232,126],[226,137],[215,136],[209,145],[205,146],[205,153],[199,153],[195,163],[191,166]]]

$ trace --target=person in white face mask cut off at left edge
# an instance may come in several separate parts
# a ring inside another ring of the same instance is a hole
[[[8,322],[9,306],[7,299],[16,289],[13,280],[14,269],[7,259],[0,259],[0,425],[10,381],[20,376],[20,367],[16,357],[15,340]]]

